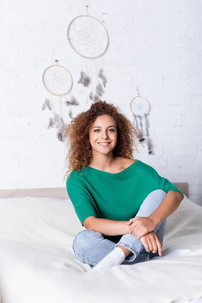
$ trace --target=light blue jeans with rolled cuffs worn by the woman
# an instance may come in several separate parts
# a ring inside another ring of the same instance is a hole
[[[148,217],[158,208],[165,196],[166,192],[161,189],[150,192],[143,200],[135,217]],[[166,229],[166,221],[167,218],[160,222],[154,229],[157,237],[162,242]],[[82,263],[87,263],[91,266],[97,265],[97,263],[103,260],[117,245],[128,248],[132,253],[121,263],[124,265],[146,262],[155,256],[159,256],[158,251],[155,254],[151,251],[147,252],[142,242],[129,233],[123,235],[118,243],[114,243],[106,239],[102,233],[87,229],[81,230],[73,240],[74,255]]]

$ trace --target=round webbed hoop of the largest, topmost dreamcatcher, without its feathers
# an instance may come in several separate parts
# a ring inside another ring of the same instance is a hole
[[[109,46],[109,35],[103,23],[88,15],[70,22],[67,38],[74,51],[87,59],[102,57]]]

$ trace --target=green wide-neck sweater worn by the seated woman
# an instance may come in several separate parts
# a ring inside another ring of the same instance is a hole
[[[143,200],[153,190],[181,192],[140,160],[116,174],[89,166],[83,171],[72,171],[67,177],[66,187],[82,226],[89,216],[128,221],[136,216]],[[118,242],[122,235],[105,237]]]

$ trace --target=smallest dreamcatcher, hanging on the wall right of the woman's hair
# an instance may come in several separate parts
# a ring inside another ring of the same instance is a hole
[[[130,109],[133,113],[133,124],[136,127],[139,141],[142,142],[144,141],[144,136],[146,137],[146,143],[148,146],[148,154],[151,154],[151,146],[149,142],[149,133],[148,133],[148,128],[149,128],[149,122],[148,122],[148,114],[150,111],[150,104],[149,102],[139,94],[139,90],[137,87],[137,97],[134,97],[131,100],[130,103]]]

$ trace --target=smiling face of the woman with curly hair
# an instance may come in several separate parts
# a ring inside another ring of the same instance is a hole
[[[117,143],[117,124],[109,115],[98,116],[90,127],[92,151],[107,155]]]

